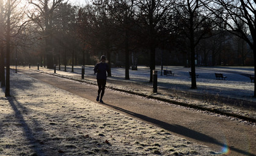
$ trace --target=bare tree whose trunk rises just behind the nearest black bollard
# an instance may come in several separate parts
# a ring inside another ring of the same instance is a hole
[[[145,30],[145,40],[150,49],[150,82],[153,81],[153,70],[155,69],[156,47],[159,44],[159,31],[166,26],[172,12],[172,1],[170,0],[136,0],[137,18]],[[168,34],[168,32],[166,32]]]

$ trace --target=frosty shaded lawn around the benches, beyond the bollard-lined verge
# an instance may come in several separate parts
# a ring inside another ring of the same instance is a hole
[[[35,67],[32,67],[35,69]],[[172,70],[174,76],[160,76],[161,67],[156,66],[158,70],[158,86],[166,88],[175,88],[177,90],[186,90],[191,87],[191,79],[189,78],[190,68],[184,68],[183,66],[164,66],[164,69]],[[40,68],[42,71],[48,71],[53,73],[53,70]],[[70,73],[71,67],[67,66],[67,71],[64,72],[64,66],[61,71],[56,71],[57,74],[65,76],[75,76],[81,73],[81,66],[74,67],[74,73]],[[112,68],[112,77],[108,77],[110,80],[123,80],[125,77],[124,68]],[[196,73],[199,74],[197,78],[197,92],[207,92],[209,94],[221,94],[222,96],[228,96],[232,98],[244,99],[247,101],[255,101],[253,99],[254,83],[251,83],[249,74],[254,75],[253,67],[230,67],[230,66],[216,66],[216,67],[197,67]],[[222,73],[227,76],[226,80],[216,80],[214,73]],[[93,66],[86,66],[86,76],[93,76]],[[87,78],[85,76],[85,78]],[[148,82],[149,80],[149,68],[146,66],[139,66],[137,71],[130,70],[130,82]],[[80,76],[81,77],[81,76]],[[193,91],[193,90],[190,90]]]

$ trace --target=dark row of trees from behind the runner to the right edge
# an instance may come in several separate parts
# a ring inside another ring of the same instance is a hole
[[[232,34],[253,42],[247,29],[246,12],[253,14],[254,1],[94,1],[79,10],[78,29],[84,30],[86,44],[103,48],[111,61],[109,51],[123,49],[126,54],[125,79],[129,79],[129,54],[134,49],[147,49],[150,54],[150,82],[155,69],[156,48],[189,48],[191,88],[196,89],[196,48],[200,41],[213,35]],[[249,19],[254,20],[254,18]],[[95,25],[94,25],[95,24]],[[86,29],[85,29],[85,26]],[[242,35],[243,34],[243,35]],[[101,40],[97,40],[101,38]],[[117,38],[119,38],[117,40]],[[250,44],[250,43],[249,43]]]

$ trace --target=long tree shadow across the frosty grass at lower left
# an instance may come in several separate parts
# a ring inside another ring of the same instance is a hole
[[[31,147],[32,150],[34,151],[34,153],[37,155],[46,155],[45,152],[43,151],[43,149],[40,147],[40,146],[42,146],[40,144],[40,140],[38,140],[37,138],[34,137],[33,130],[27,124],[26,120],[23,117],[22,112],[27,112],[28,110],[25,107],[23,107],[18,101],[16,101],[16,99],[14,97],[9,97],[7,99],[15,113],[14,117],[16,118],[16,121],[20,122],[21,127],[23,128],[24,137],[27,138],[27,140],[29,141],[29,144],[34,145],[34,146],[29,146],[29,147]],[[33,122],[34,122],[34,126],[37,126],[37,129],[40,129],[40,127],[38,127],[40,125],[40,123],[38,121],[36,121],[35,119],[33,119]]]

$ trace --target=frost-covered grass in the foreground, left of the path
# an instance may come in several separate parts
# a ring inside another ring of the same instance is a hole
[[[23,74],[0,91],[0,155],[216,155],[208,147]]]

